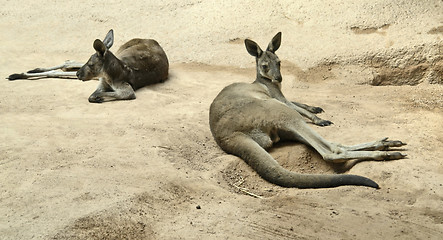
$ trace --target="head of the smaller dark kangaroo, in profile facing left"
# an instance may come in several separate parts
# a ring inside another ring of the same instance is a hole
[[[103,72],[103,65],[105,63],[106,55],[108,53],[109,48],[112,47],[114,43],[114,31],[109,30],[108,34],[106,34],[103,42],[100,39],[96,39],[94,41],[93,47],[96,51],[77,71],[77,77],[80,80],[87,81],[91,80],[95,77],[99,77]]]

